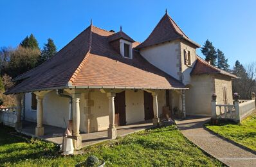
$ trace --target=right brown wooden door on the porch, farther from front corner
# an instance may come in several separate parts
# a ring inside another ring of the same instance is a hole
[[[144,91],[144,113],[145,120],[154,118],[153,97],[150,92]]]

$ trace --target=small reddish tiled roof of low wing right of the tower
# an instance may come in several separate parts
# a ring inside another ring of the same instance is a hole
[[[237,76],[233,75],[232,73],[228,73],[223,69],[219,69],[217,67],[212,66],[211,64],[209,64],[199,56],[197,56],[196,64],[193,67],[190,74],[191,75],[221,74],[221,75],[231,76],[232,78],[237,78]]]

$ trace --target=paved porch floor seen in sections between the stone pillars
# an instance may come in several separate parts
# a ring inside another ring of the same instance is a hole
[[[36,127],[36,123],[23,121],[23,129],[21,130],[21,132],[28,136],[35,137],[35,127]],[[134,123],[131,125],[116,127],[117,136],[125,136],[127,134],[132,134],[134,132],[145,130],[151,127],[152,127],[151,121],[143,121],[140,123]],[[44,139],[46,141],[51,141],[56,144],[61,144],[62,136],[64,132],[65,132],[64,128],[44,125],[44,136],[41,136],[39,138]],[[93,132],[89,134],[80,132],[80,135],[82,136],[82,147],[88,146],[88,145],[94,145],[96,143],[109,140],[109,138],[107,138],[106,130],[100,131],[100,132]]]

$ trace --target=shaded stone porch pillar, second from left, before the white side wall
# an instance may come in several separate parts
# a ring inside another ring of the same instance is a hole
[[[36,96],[37,98],[37,127],[35,128],[35,136],[44,136],[44,127],[42,127],[42,99],[43,96]]]

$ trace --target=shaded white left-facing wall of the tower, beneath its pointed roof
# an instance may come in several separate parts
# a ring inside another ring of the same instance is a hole
[[[180,79],[181,49],[178,40],[140,49],[140,54],[151,64]]]

